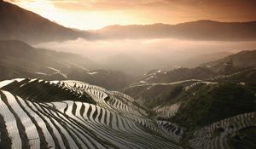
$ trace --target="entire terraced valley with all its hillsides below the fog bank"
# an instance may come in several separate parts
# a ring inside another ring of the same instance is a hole
[[[1,148],[254,146],[255,59],[240,59],[254,51],[132,77],[20,41],[0,48]]]

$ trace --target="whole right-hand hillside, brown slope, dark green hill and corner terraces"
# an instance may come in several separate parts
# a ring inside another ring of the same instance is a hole
[[[147,106],[152,117],[186,128],[181,140],[185,146],[253,149],[255,83],[229,83],[234,82],[230,77],[212,81],[134,84],[123,91]]]

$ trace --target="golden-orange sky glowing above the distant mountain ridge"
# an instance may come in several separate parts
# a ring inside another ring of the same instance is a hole
[[[256,20],[256,0],[6,0],[62,26]]]

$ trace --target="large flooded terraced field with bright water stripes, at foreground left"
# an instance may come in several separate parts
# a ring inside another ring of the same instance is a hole
[[[147,117],[128,95],[76,81],[0,87],[0,148],[183,148],[183,129]]]

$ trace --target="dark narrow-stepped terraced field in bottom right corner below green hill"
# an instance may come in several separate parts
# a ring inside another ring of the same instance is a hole
[[[242,148],[255,148],[256,138],[250,140],[237,140],[234,138],[241,129],[256,127],[256,112],[245,113],[212,123],[211,125],[195,131],[195,138],[189,140],[193,148],[236,148],[231,141],[239,141]],[[244,136],[243,136],[244,137]],[[239,139],[239,138],[238,138]],[[239,148],[239,147],[238,147]]]

